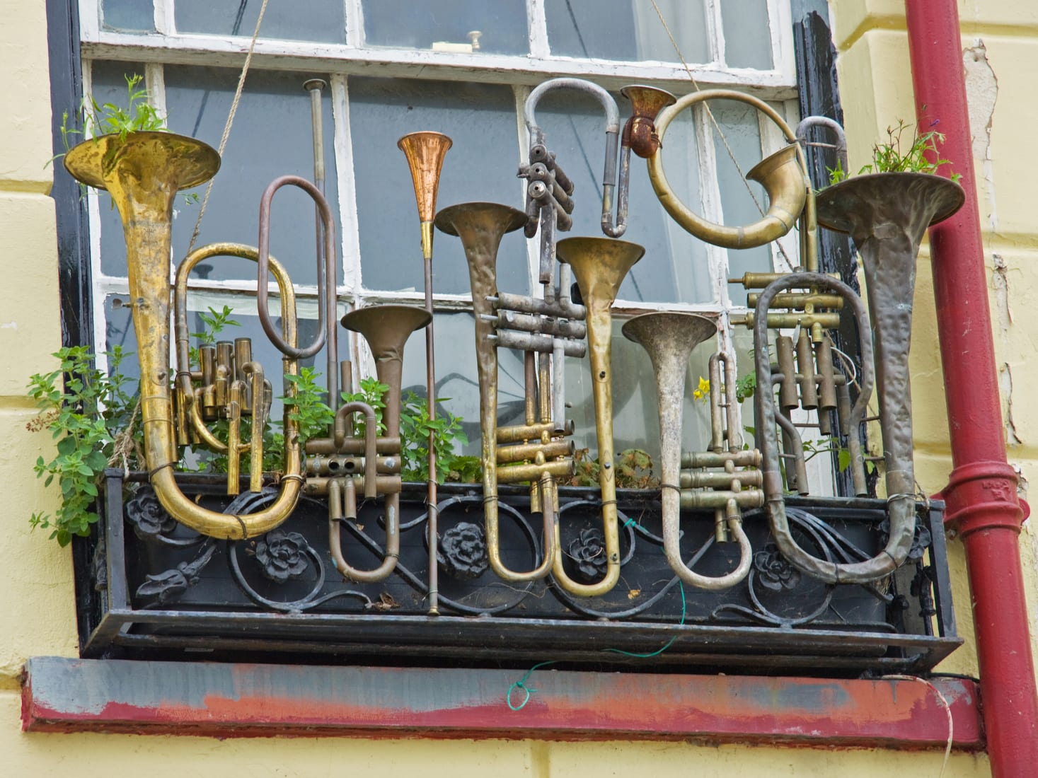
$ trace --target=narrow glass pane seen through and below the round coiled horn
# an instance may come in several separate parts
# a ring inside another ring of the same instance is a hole
[[[746,173],[762,159],[760,114],[753,106],[734,101],[711,101],[710,110],[717,122],[711,121],[710,127],[717,158],[723,222],[730,227],[753,224],[761,219],[768,205],[764,188],[745,179]],[[768,273],[771,271],[771,248],[729,249],[728,262],[729,278],[741,277],[743,273]],[[746,304],[746,290],[740,284],[729,284],[728,293],[734,305]]]

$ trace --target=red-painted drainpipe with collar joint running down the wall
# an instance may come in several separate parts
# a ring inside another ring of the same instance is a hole
[[[930,228],[952,444],[946,522],[965,548],[991,774],[1025,778],[1038,772],[1038,692],[1018,543],[1028,506],[1006,462],[958,8],[955,0],[905,0],[905,12],[917,121],[946,135],[941,157],[966,191],[958,214]]]

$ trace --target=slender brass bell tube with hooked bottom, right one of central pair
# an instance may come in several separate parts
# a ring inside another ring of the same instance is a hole
[[[588,308],[588,345],[592,390],[595,398],[595,429],[598,436],[599,484],[602,492],[602,527],[605,537],[605,577],[595,584],[573,581],[556,555],[553,574],[567,591],[581,596],[600,596],[620,580],[620,534],[617,527],[617,479],[613,472],[612,386],[610,383],[610,338],[612,314],[609,309],[624,277],[645,254],[645,249],[627,241],[605,238],[567,238],[556,246],[558,260],[573,269],[580,297]],[[555,545],[561,547],[558,525]]]

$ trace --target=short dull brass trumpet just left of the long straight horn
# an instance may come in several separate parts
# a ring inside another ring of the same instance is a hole
[[[378,456],[380,441],[381,449],[388,454],[383,461],[383,468],[400,472],[400,392],[404,365],[404,344],[415,330],[420,330],[429,324],[431,316],[424,308],[407,305],[375,305],[358,308],[343,316],[343,326],[348,330],[359,332],[364,336],[367,345],[375,357],[375,370],[379,382],[389,387],[385,395],[383,422],[385,435],[378,435],[375,421],[375,411],[363,402],[348,402],[338,409],[335,415],[332,449],[336,453],[347,453],[347,419],[354,413],[365,415],[364,423],[364,475],[358,478],[344,474],[343,477],[329,477],[315,483],[313,489],[324,487],[323,493],[328,496],[328,544],[331,549],[335,568],[351,581],[374,583],[385,580],[397,567],[400,558],[400,475],[378,475]],[[356,439],[352,439],[353,442]],[[387,441],[395,443],[395,449],[386,450]],[[313,444],[313,445],[311,445]],[[352,447],[351,447],[352,448]],[[327,450],[327,441],[307,441],[306,453],[317,453]],[[352,453],[352,451],[350,451]],[[391,462],[395,460],[395,462]],[[345,463],[344,463],[345,464]],[[318,463],[315,463],[315,470]],[[327,465],[325,468],[327,470]],[[310,481],[307,479],[307,494]],[[320,483],[320,487],[318,485]],[[361,571],[346,561],[343,556],[343,546],[339,533],[339,523],[357,518],[356,491],[363,490],[364,497],[375,498],[382,494],[385,501],[386,548],[382,563],[375,569]]]

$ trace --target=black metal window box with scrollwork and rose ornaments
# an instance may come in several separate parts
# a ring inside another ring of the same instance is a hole
[[[584,600],[552,581],[509,584],[486,567],[483,498],[474,484],[440,495],[440,615],[427,614],[424,484],[405,484],[401,554],[378,584],[335,571],[323,502],[302,498],[280,528],[240,541],[186,530],[159,508],[142,474],[107,473],[95,535],[77,545],[84,657],[419,665],[559,666],[663,671],[857,676],[920,673],[962,641],[952,611],[943,504],[917,506],[917,544],[898,573],[875,585],[830,586],[792,568],[769,540],[766,518],[745,518],[755,549],[747,578],[723,591],[682,586],[662,551],[658,492],[621,491],[623,566],[607,595]],[[183,476],[211,508],[231,504],[225,481]],[[540,517],[527,492],[502,488],[502,556],[514,569],[540,558]],[[559,490],[567,566],[601,577],[598,491]],[[381,500],[343,528],[344,554],[361,568],[382,559]],[[884,502],[788,500],[801,545],[834,561],[882,547]],[[682,548],[698,571],[731,569],[734,544],[713,540],[712,515],[683,516]],[[731,546],[729,549],[727,547]],[[686,560],[687,561],[687,560]]]

